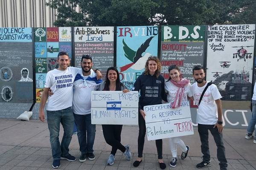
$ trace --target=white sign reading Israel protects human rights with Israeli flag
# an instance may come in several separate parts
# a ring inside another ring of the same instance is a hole
[[[92,124],[138,125],[137,91],[92,91]]]

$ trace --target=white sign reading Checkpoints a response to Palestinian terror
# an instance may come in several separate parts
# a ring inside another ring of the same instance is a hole
[[[164,139],[194,134],[189,102],[172,109],[169,103],[144,106],[148,140]]]

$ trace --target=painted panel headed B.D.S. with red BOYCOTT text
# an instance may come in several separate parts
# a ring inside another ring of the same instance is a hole
[[[161,74],[169,79],[168,67],[178,65],[183,78],[190,83],[194,65],[204,64],[205,26],[162,26],[161,28]]]

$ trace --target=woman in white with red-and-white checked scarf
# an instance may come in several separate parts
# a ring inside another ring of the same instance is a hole
[[[180,69],[177,65],[171,65],[168,68],[170,77],[165,83],[165,91],[167,93],[167,100],[172,108],[179,108],[181,102],[187,101],[187,96],[191,97],[191,84],[189,80],[181,78]],[[177,164],[177,146],[182,150],[181,159],[185,159],[189,152],[189,146],[186,146],[180,137],[169,138],[172,159],[171,167],[176,167]]]

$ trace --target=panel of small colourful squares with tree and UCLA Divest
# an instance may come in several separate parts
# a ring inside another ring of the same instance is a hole
[[[58,53],[64,51],[72,59],[71,27],[34,28],[35,40],[35,94],[41,102],[47,72],[58,68]],[[38,104],[35,104],[36,107]],[[38,110],[33,112],[38,114]]]

